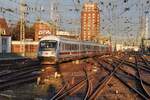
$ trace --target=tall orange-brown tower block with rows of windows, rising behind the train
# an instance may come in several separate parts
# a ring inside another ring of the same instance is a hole
[[[100,35],[100,11],[96,3],[85,3],[81,12],[81,40],[97,41]]]

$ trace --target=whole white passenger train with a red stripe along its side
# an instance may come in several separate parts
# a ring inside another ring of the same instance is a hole
[[[42,64],[92,57],[109,51],[108,45],[71,40],[59,36],[45,36],[39,41],[38,58]]]

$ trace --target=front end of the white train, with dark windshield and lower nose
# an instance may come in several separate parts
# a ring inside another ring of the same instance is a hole
[[[40,41],[38,59],[41,64],[55,64],[57,62],[57,44],[55,40]]]

